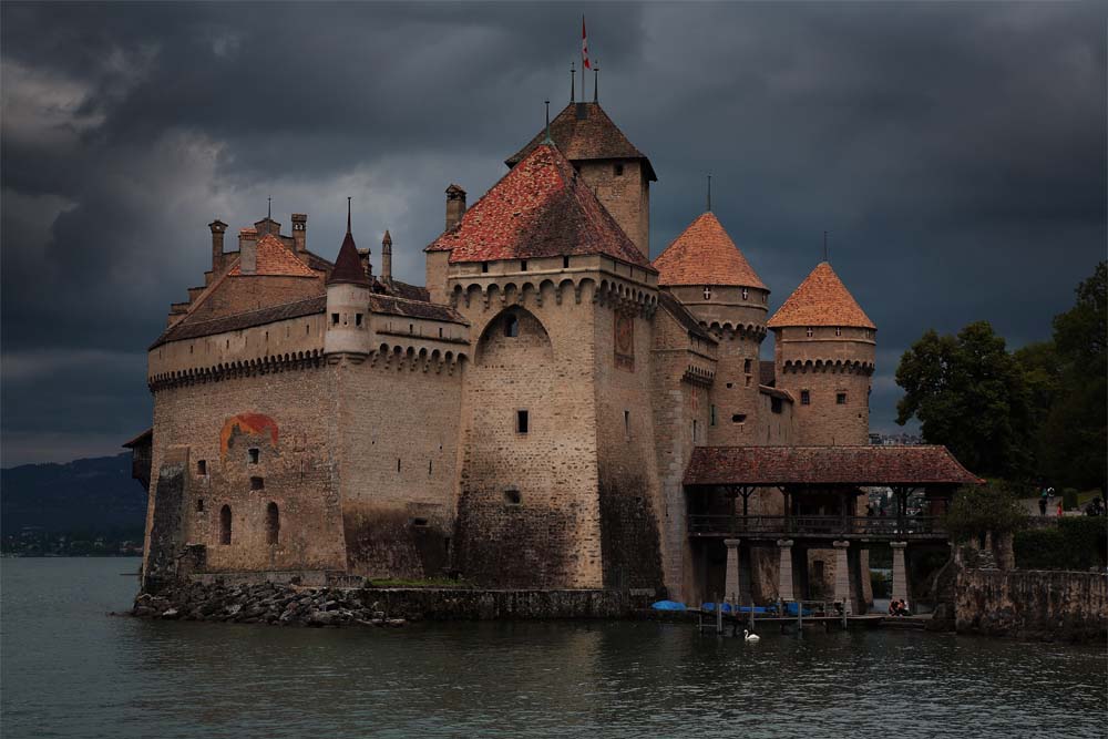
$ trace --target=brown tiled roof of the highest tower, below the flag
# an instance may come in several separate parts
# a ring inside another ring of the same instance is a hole
[[[546,138],[546,130],[540,131],[526,146],[504,161],[512,167],[526,158]],[[570,103],[551,121],[551,138],[571,162],[584,160],[642,160],[646,176],[657,182],[650,160],[627,141],[599,103]]]

